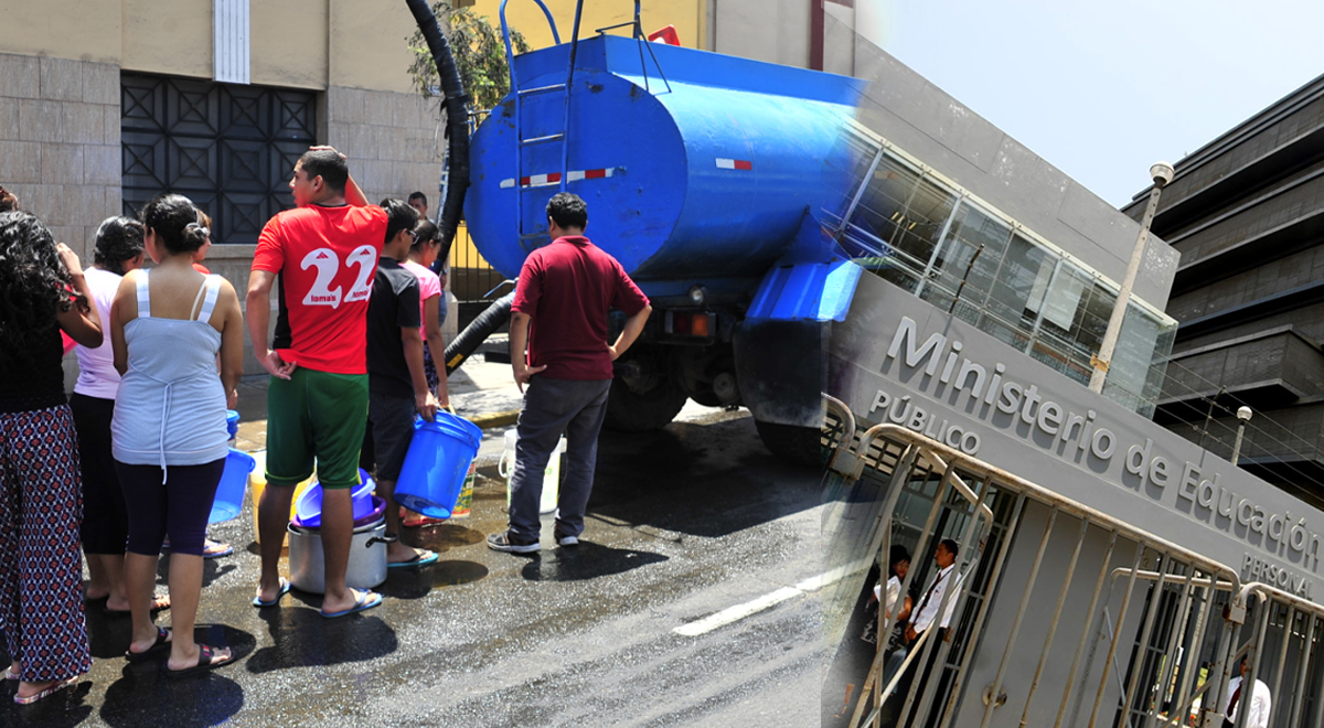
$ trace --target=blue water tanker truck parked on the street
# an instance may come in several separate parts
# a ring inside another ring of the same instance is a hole
[[[547,201],[579,195],[585,234],[654,308],[616,363],[608,426],[661,428],[687,398],[743,405],[769,449],[814,459],[821,341],[859,275],[824,225],[849,203],[858,82],[649,42],[633,25],[512,58],[511,93],[469,140],[470,234],[515,278],[549,242]]]

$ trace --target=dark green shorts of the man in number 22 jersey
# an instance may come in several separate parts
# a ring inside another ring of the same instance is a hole
[[[359,450],[368,421],[368,375],[298,367],[266,390],[266,482],[295,486],[312,475],[327,490],[359,484]]]

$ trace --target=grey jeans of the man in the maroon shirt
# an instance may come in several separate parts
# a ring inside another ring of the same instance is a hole
[[[565,473],[556,503],[556,527],[564,535],[584,532],[584,508],[593,490],[597,433],[606,417],[612,380],[572,381],[534,376],[519,413],[515,473],[510,482],[510,532],[538,539],[543,473],[561,435],[565,435]]]

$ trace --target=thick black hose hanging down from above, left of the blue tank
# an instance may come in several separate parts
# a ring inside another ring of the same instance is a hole
[[[450,164],[446,200],[442,203],[437,228],[441,232],[441,246],[449,248],[455,240],[459,218],[465,214],[465,193],[469,191],[469,97],[459,81],[455,57],[450,53],[450,42],[437,24],[437,16],[426,0],[405,0],[409,11],[428,41],[428,50],[437,64],[437,77],[441,78],[441,91],[446,98],[446,138],[449,139]]]

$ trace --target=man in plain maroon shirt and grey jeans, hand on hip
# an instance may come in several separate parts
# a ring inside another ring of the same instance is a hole
[[[532,553],[542,524],[543,471],[565,435],[565,478],[556,508],[556,543],[579,544],[584,510],[593,488],[597,434],[606,414],[616,361],[643,331],[653,308],[625,269],[587,237],[584,200],[561,192],[547,204],[552,244],[531,253],[519,273],[511,306],[510,360],[524,393],[511,477],[510,529],[487,537],[495,551]],[[614,344],[606,343],[606,315],[628,319]],[[528,344],[528,357],[524,344]]]

